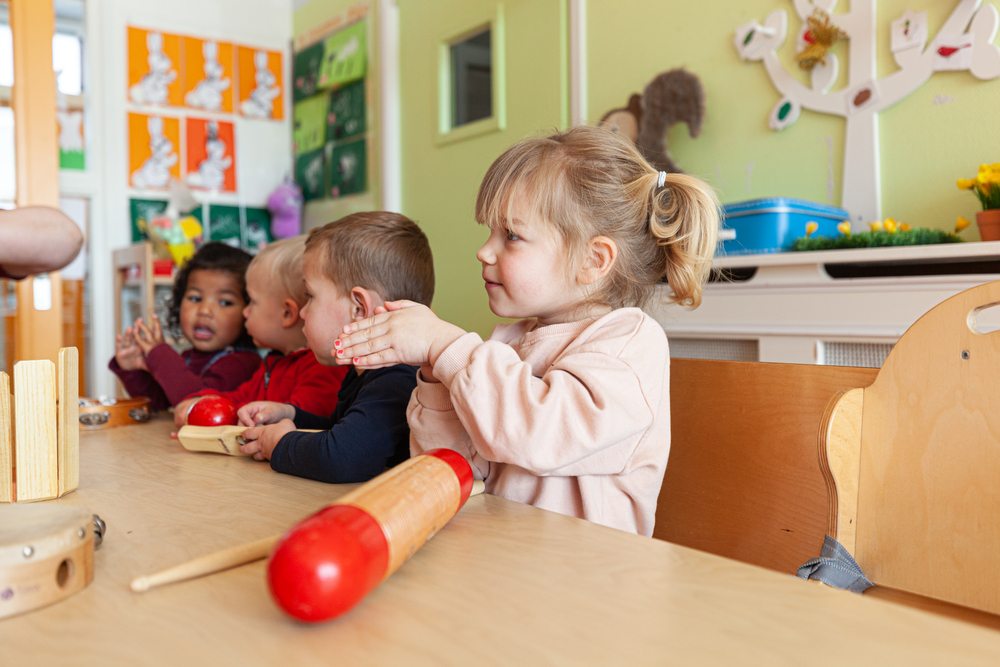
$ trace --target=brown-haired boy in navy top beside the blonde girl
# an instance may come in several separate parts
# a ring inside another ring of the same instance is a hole
[[[309,294],[304,333],[316,358],[331,367],[338,357],[334,341],[346,325],[384,312],[386,301],[430,305],[434,295],[427,237],[409,218],[384,211],[312,230],[302,273]],[[406,405],[416,376],[417,368],[405,364],[351,368],[329,417],[297,405],[250,403],[239,410],[240,423],[253,427],[244,431],[247,444],[240,449],[270,459],[278,472],[337,484],[369,480],[409,458]]]

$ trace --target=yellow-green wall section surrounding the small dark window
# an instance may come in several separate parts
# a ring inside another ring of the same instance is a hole
[[[434,310],[482,335],[497,323],[476,251],[488,232],[476,224],[476,192],[490,164],[527,136],[564,127],[567,115],[565,7],[557,0],[503,3],[506,127],[442,144],[437,137],[441,44],[496,16],[484,0],[398,0],[403,137],[403,212],[434,251]]]

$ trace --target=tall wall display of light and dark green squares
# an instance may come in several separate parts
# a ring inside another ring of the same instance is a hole
[[[306,201],[368,190],[368,22],[296,51],[295,180]]]

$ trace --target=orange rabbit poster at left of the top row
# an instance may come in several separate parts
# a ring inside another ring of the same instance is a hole
[[[180,106],[181,38],[128,29],[128,98],[134,104]]]

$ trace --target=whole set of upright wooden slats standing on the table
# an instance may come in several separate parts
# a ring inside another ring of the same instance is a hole
[[[79,354],[14,364],[0,373],[0,503],[58,498],[80,482]]]

